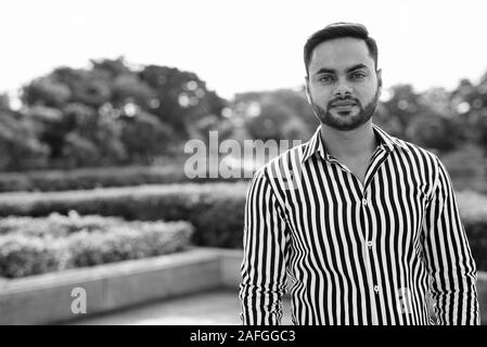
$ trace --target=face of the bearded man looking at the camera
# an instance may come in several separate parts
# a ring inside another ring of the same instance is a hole
[[[363,40],[339,38],[318,44],[309,62],[306,91],[322,124],[347,131],[367,123],[381,94],[381,72]]]

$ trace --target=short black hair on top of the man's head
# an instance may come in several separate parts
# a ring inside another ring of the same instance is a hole
[[[321,42],[343,37],[354,37],[363,40],[369,49],[371,57],[374,60],[375,69],[377,69],[377,43],[369,36],[367,27],[359,23],[338,22],[326,25],[323,29],[312,34],[306,41],[304,49],[306,74],[308,74],[309,62],[311,61],[311,53],[315,48]]]

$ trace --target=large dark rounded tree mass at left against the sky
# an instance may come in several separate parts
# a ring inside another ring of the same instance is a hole
[[[21,99],[22,121],[0,124],[10,150],[3,170],[148,164],[203,132],[193,126],[200,119],[220,119],[227,104],[194,73],[133,67],[123,57],[57,67],[24,86]],[[8,104],[2,98],[0,113]]]

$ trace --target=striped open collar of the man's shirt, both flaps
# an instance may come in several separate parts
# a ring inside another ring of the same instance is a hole
[[[392,136],[389,136],[387,132],[382,130],[376,125],[372,124],[372,129],[374,130],[374,133],[376,138],[379,139],[379,145],[381,149],[384,149],[387,152],[392,152],[395,149],[405,149],[405,143],[402,143],[399,139],[396,139]],[[333,160],[333,157],[326,152],[323,145],[323,141],[321,139],[321,127],[318,126],[317,130],[315,131],[315,134],[309,139],[308,142],[305,143],[305,150],[303,152],[303,158],[302,164],[305,163],[311,155],[319,154],[324,160]]]

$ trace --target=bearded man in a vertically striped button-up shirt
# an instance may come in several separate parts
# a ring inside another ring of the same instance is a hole
[[[260,168],[247,193],[241,319],[279,324],[478,324],[476,269],[451,182],[432,153],[372,124],[377,47],[335,23],[305,44],[309,142]]]

